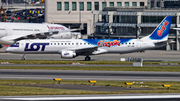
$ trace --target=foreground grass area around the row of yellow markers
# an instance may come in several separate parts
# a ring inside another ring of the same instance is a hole
[[[98,86],[116,86],[125,87],[125,81],[97,81]],[[85,91],[85,90],[67,90],[57,88],[41,88],[41,87],[27,87],[15,86],[22,85],[35,85],[35,84],[53,84],[53,80],[2,80],[0,79],[0,96],[17,96],[17,95],[80,95],[80,94],[129,94],[129,93],[180,93],[180,82],[136,82],[132,87],[140,88],[141,85],[148,86],[154,90],[128,90],[128,91]],[[62,84],[81,84],[90,85],[88,81],[71,81],[62,80]],[[171,90],[165,90],[162,84],[171,85]]]

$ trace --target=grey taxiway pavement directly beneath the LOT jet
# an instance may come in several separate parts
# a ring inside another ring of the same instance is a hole
[[[11,54],[4,53],[0,50],[0,59],[12,59],[20,60],[21,54]],[[101,54],[91,56],[92,61],[101,60],[120,60],[120,58],[125,58],[128,60],[129,57],[133,58],[143,58],[144,61],[180,61],[179,51],[161,51],[161,50],[147,50],[145,53],[128,53],[128,54]],[[84,61],[84,56],[78,56],[73,59],[62,59],[60,54],[26,54],[26,60],[79,60]]]

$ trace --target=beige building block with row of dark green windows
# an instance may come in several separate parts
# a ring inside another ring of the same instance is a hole
[[[93,11],[102,11],[105,7],[145,7],[147,0],[46,0],[45,21],[66,26],[79,26],[84,23],[82,34],[94,33]]]

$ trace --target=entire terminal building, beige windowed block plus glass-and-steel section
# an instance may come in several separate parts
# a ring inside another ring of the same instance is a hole
[[[165,16],[171,27],[180,26],[179,0],[46,0],[45,20],[64,25],[85,24],[88,38],[141,38],[150,34]],[[85,37],[83,37],[85,38]],[[170,30],[175,43],[160,48],[180,50],[179,31]]]

